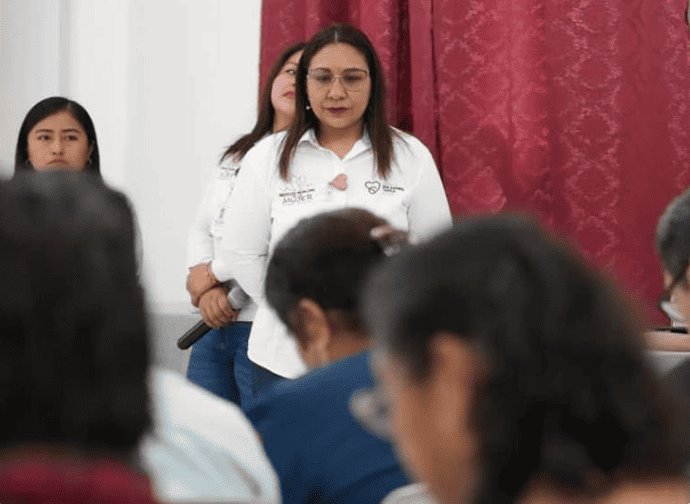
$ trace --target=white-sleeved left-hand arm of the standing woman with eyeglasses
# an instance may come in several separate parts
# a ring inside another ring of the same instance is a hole
[[[211,263],[221,282],[234,278],[252,298],[263,297],[263,283],[271,236],[274,142],[267,138],[242,160],[235,190],[225,214],[222,240]]]

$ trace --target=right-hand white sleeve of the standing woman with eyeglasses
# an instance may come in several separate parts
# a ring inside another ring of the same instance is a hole
[[[419,178],[412,191],[407,210],[409,238],[413,243],[430,238],[452,224],[448,198],[441,176],[429,150],[414,139],[413,163],[419,167]]]

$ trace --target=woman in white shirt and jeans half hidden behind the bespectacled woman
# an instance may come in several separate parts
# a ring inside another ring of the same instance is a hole
[[[295,73],[303,48],[303,43],[295,44],[278,56],[262,90],[254,129],[223,153],[220,170],[208,186],[189,236],[189,285],[193,285],[197,277],[205,276],[208,263],[216,255],[242,158],[261,138],[284,130],[292,123]],[[233,237],[236,239],[241,240],[241,237]],[[199,307],[204,321],[215,329],[193,346],[187,376],[246,409],[252,395],[247,339],[256,304],[231,278],[212,286],[198,298],[192,296],[192,303]]]

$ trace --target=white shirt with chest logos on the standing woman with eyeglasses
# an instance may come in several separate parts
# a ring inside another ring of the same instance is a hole
[[[397,133],[386,179],[376,172],[366,133],[341,159],[319,145],[313,130],[306,132],[287,181],[278,171],[285,132],[258,142],[242,160],[211,267],[219,280],[235,278],[259,303],[249,338],[252,361],[288,378],[306,371],[294,338],[263,300],[268,258],[280,238],[301,219],[342,208],[364,208],[408,231],[413,242],[450,225],[448,201],[431,153],[415,137]],[[347,175],[344,191],[330,185],[341,173]]]

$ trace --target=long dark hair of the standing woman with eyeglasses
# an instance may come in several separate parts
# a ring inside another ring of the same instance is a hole
[[[312,110],[307,110],[307,71],[314,55],[328,44],[348,44],[357,49],[367,60],[371,78],[369,105],[364,111],[364,127],[369,133],[376,159],[376,170],[386,178],[393,162],[394,130],[386,119],[386,85],[379,57],[367,36],[349,24],[336,23],[324,28],[307,42],[299,66],[297,67],[297,89],[295,99],[295,120],[288,130],[280,155],[280,176],[287,180],[290,162],[295,155],[302,135],[314,128],[319,130],[319,120]]]

